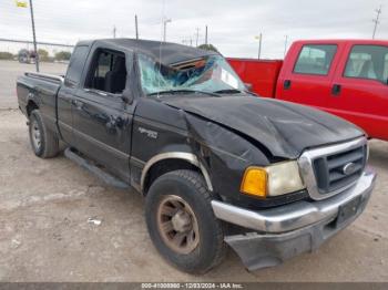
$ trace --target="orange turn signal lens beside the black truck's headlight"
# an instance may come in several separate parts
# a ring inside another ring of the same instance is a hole
[[[248,167],[245,170],[241,191],[257,197],[267,196],[267,172],[261,167]]]

